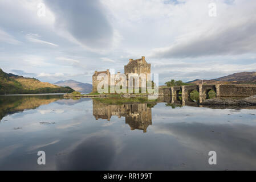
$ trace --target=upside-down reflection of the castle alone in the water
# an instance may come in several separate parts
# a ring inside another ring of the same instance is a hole
[[[143,130],[144,133],[152,125],[151,108],[147,104],[107,105],[94,100],[93,114],[96,120],[100,118],[110,121],[112,115],[125,117],[125,123],[131,130]]]

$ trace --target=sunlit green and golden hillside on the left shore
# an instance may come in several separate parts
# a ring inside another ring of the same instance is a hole
[[[62,87],[41,82],[36,78],[5,73],[0,69],[0,94],[26,94],[26,93],[71,93],[70,87]]]

